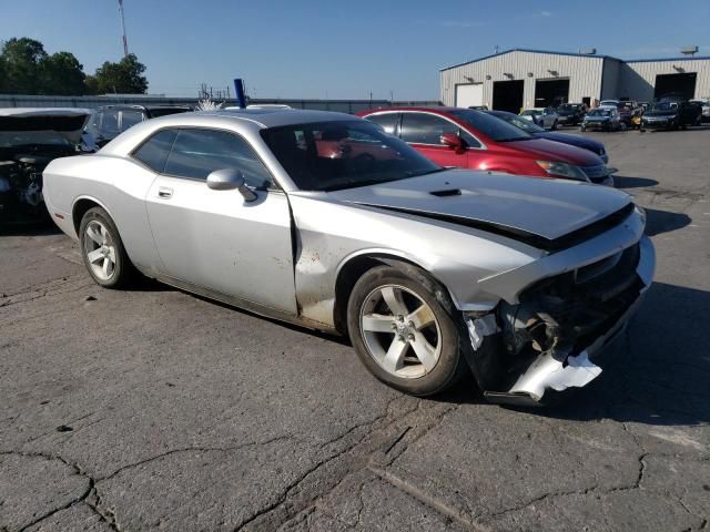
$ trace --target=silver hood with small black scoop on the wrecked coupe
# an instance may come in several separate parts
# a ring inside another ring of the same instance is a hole
[[[606,186],[465,170],[328,192],[327,196],[518,236],[548,250],[558,248],[566,236],[610,216],[619,218],[618,213],[632,208],[628,194]]]

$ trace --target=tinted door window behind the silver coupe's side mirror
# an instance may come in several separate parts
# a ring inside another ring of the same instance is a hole
[[[233,133],[215,130],[178,132],[165,163],[165,174],[192,180],[206,180],[215,170],[235,168],[255,187],[272,184],[272,177],[252,146]]]

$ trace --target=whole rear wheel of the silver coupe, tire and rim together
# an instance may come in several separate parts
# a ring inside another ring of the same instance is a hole
[[[87,211],[79,226],[81,256],[91,278],[103,288],[129,284],[133,265],[115,224],[101,207]]]

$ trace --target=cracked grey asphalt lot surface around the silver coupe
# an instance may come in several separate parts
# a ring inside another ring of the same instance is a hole
[[[0,236],[1,531],[710,529],[710,129],[594,134],[658,272],[562,405],[415,399],[346,345]]]

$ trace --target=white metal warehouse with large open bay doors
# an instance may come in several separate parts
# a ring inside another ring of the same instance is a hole
[[[709,99],[710,57],[622,61],[516,49],[443,69],[440,90],[446,105],[516,113],[560,102],[651,101],[669,92]]]

